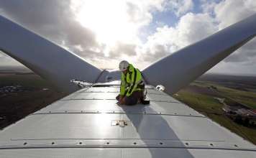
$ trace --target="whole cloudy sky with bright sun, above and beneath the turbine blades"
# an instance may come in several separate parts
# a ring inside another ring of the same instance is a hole
[[[255,13],[255,0],[0,0],[4,17],[108,69],[143,69]],[[0,52],[0,67],[14,65]],[[256,38],[209,73],[256,75]]]

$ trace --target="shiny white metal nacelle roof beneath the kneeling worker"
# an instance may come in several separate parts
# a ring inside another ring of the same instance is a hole
[[[79,90],[1,131],[0,157],[256,157],[255,145],[147,88],[146,106],[117,106],[116,85]]]

